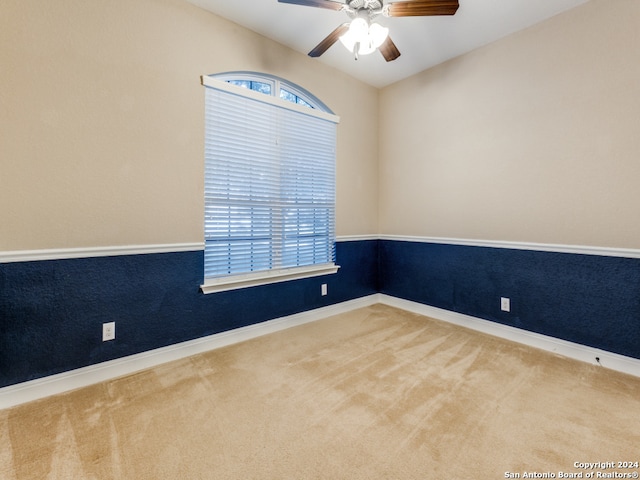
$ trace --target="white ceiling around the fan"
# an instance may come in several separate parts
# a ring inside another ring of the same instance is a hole
[[[305,54],[338,25],[349,21],[344,12],[277,0],[188,1]],[[460,0],[460,8],[452,17],[380,16],[376,21],[389,27],[400,58],[387,63],[374,52],[356,61],[337,42],[316,61],[380,88],[587,1]]]

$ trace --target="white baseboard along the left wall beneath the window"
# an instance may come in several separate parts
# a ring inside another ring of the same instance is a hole
[[[244,342],[375,303],[378,303],[377,294],[0,388],[0,409],[129,375],[163,363]]]

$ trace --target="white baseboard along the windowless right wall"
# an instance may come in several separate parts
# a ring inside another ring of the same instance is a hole
[[[379,294],[380,303],[400,308],[410,312],[425,315],[436,320],[442,320],[461,327],[470,328],[479,332],[504,338],[513,342],[529,345],[549,352],[557,353],[564,357],[573,358],[582,362],[600,365],[611,370],[627,373],[640,377],[640,360],[607,352],[598,348],[580,345],[578,343],[560,340],[539,333],[529,332],[516,327],[510,327],[501,323],[482,320],[462,313],[451,312],[441,308],[431,307],[422,303],[403,300],[389,295]],[[598,359],[598,360],[596,360]]]

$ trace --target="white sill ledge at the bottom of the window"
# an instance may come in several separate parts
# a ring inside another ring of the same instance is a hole
[[[218,293],[240,288],[268,285],[270,283],[287,282],[301,278],[317,277],[336,273],[340,268],[334,263],[311,265],[307,267],[286,268],[282,270],[270,270],[268,272],[250,273],[246,275],[233,275],[206,280],[200,285],[202,293]]]

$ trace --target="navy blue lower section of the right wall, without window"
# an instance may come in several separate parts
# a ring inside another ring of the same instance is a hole
[[[381,293],[640,359],[639,259],[392,240],[379,254]]]

